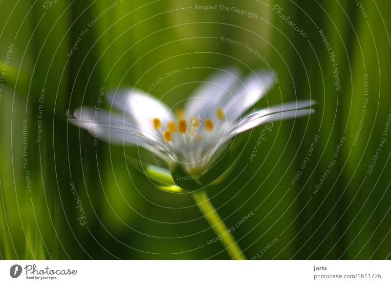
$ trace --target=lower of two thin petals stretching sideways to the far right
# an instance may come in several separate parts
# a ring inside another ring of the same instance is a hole
[[[255,118],[249,117],[248,119],[245,119],[243,122],[240,122],[237,125],[237,127],[235,127],[235,129],[233,130],[233,134],[235,135],[239,134],[241,132],[257,127],[267,122],[282,121],[290,118],[298,118],[301,116],[309,115],[314,112],[315,110],[313,109],[299,109],[299,110],[282,111],[282,112],[264,115],[261,117],[255,117]]]

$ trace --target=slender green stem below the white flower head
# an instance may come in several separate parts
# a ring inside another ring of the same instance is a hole
[[[195,191],[193,192],[193,197],[195,203],[198,205],[199,210],[204,215],[206,221],[208,221],[217,237],[221,237],[219,240],[226,248],[227,253],[231,259],[245,260],[246,257],[240,249],[239,244],[235,241],[231,232],[228,230],[225,223],[221,220],[220,215],[218,215],[215,207],[213,207],[206,192],[203,190]]]

